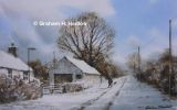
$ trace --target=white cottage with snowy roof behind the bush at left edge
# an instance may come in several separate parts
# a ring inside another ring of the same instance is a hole
[[[27,81],[29,81],[29,76],[30,80],[34,79],[32,69],[24,62],[0,50],[0,75],[2,74],[10,78],[15,76]]]

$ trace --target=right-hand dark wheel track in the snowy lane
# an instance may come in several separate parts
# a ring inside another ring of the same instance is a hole
[[[114,100],[116,99],[116,97],[119,95],[119,92],[121,92],[122,88],[124,87],[124,84],[126,82],[126,80],[127,80],[127,78],[125,78],[125,79],[124,79],[124,81],[123,81],[123,84],[122,84],[121,88],[119,88],[119,89],[118,89],[118,91],[115,94],[115,96],[113,96],[113,100],[112,100],[112,101],[110,101],[110,102],[107,103],[107,106],[105,107],[105,109],[104,109],[104,110],[110,110],[110,108],[112,107],[112,105],[113,105]]]

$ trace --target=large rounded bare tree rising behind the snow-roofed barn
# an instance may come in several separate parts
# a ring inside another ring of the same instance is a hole
[[[114,30],[94,12],[82,13],[65,22],[85,22],[86,25],[62,25],[59,47],[98,69],[112,53]]]

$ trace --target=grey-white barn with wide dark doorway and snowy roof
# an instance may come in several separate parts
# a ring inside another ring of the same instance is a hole
[[[84,61],[64,56],[50,70],[50,84],[84,81],[94,84],[101,81],[101,74]]]

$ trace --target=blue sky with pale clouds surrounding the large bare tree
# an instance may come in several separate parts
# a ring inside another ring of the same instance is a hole
[[[59,26],[35,26],[33,21],[62,21],[85,11],[97,12],[116,31],[113,58],[124,63],[140,45],[142,56],[168,47],[168,21],[173,18],[173,53],[177,54],[177,0],[0,0],[0,48],[11,42],[27,59],[27,47],[37,47],[33,58],[49,62],[56,47]]]

